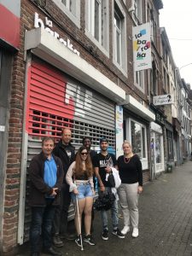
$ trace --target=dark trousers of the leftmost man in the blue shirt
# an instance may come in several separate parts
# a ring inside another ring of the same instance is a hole
[[[39,253],[40,236],[43,238],[44,248],[51,247],[51,229],[55,207],[51,201],[47,201],[46,207],[32,207],[32,223],[30,228],[31,252]]]

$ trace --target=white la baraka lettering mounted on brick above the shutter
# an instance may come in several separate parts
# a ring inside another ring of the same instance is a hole
[[[65,45],[68,49],[73,51],[74,54],[80,55],[79,51],[73,48],[73,44],[70,42],[68,38],[67,41],[64,40],[60,37],[60,35],[57,32],[51,29],[53,27],[53,22],[49,20],[47,17],[45,17],[43,21],[42,19],[38,18],[38,13],[35,13],[34,27],[43,27],[46,32],[49,32],[54,38],[58,39],[61,42],[61,44]]]

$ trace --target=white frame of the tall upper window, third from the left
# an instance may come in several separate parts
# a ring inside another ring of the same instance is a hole
[[[115,9],[117,7],[117,9]],[[121,4],[119,3],[119,0],[113,0],[113,64],[119,68],[119,70],[126,76],[127,76],[127,36],[126,36],[126,15],[125,10],[122,8]],[[117,50],[116,50],[116,32],[117,27],[114,24],[114,15],[118,15],[118,17],[121,20],[121,32],[120,32],[120,61],[117,61]]]

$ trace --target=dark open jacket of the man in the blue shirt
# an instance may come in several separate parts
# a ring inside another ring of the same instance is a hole
[[[53,155],[57,167],[57,180],[55,188],[61,189],[63,181],[63,168],[61,160]],[[46,183],[44,183],[44,162],[46,156],[43,152],[34,156],[29,166],[30,189],[29,189],[29,204],[32,207],[44,207],[46,205],[45,195],[50,195],[53,191]],[[55,196],[53,205],[60,204],[60,196]]]

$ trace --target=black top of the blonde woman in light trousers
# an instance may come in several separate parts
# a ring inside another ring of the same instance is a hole
[[[118,158],[119,177],[121,183],[139,183],[143,186],[143,172],[142,163],[137,156],[134,154],[131,159],[124,159],[124,155],[120,155]]]

